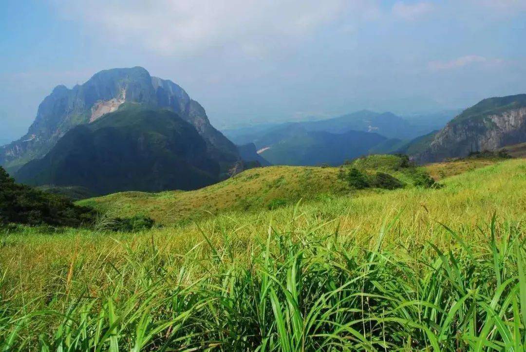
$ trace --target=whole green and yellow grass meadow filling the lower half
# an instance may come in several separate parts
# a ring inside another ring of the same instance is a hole
[[[320,182],[305,202],[274,210],[233,207],[135,234],[11,230],[0,237],[0,345],[523,349],[526,160],[438,189],[351,194],[339,193],[336,169],[312,170]],[[247,189],[276,192],[256,179]],[[286,185],[297,195],[306,184]],[[222,187],[235,202],[236,187]]]

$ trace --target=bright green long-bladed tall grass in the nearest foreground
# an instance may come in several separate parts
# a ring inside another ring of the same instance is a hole
[[[126,250],[118,267],[95,259],[109,284],[70,295],[66,282],[63,309],[46,308],[49,301],[28,311],[33,302],[3,298],[0,344],[4,350],[522,350],[522,225],[493,217],[480,229],[487,243],[477,248],[446,228],[456,238],[454,250],[429,244],[409,255],[382,243],[397,221],[383,224],[369,249],[337,230],[320,235],[316,226],[270,226],[244,257],[234,254],[239,249],[227,232],[222,245],[203,233],[185,254],[163,253],[155,242],[117,244]],[[70,266],[79,270],[76,260]],[[5,272],[0,277],[8,297]]]

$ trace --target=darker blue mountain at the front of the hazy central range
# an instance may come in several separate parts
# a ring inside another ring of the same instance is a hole
[[[259,154],[274,165],[341,165],[369,153],[369,149],[385,143],[386,137],[377,133],[349,131],[329,133],[308,131],[291,126],[279,142],[260,149]]]

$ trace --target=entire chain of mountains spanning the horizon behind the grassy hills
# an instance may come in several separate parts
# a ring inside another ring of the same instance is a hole
[[[117,68],[72,89],[57,86],[28,133],[0,146],[0,164],[19,182],[82,197],[196,189],[271,164],[340,165],[385,153],[428,163],[526,142],[526,94],[484,99],[451,119],[455,113],[361,110],[226,130],[234,144],[177,84],[141,67]]]

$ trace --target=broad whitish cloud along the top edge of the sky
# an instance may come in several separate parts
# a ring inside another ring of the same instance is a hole
[[[366,0],[55,0],[62,15],[101,31],[108,41],[158,54],[193,55],[210,48],[248,56],[287,47],[337,22]]]

